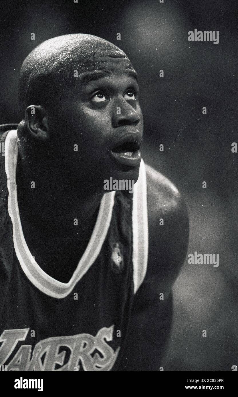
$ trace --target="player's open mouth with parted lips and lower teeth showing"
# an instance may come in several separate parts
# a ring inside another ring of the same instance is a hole
[[[111,150],[112,157],[126,166],[138,166],[141,161],[141,143],[135,141],[123,142]]]

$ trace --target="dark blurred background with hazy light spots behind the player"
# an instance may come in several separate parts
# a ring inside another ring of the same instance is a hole
[[[17,79],[39,43],[89,33],[122,48],[139,75],[143,158],[184,195],[188,252],[219,253],[219,267],[185,262],[174,284],[165,371],[238,366],[238,2],[227,0],[8,0],[0,13],[0,123],[19,122]],[[219,31],[219,44],[188,31]],[[31,40],[35,33],[35,40]],[[116,34],[121,40],[116,40]],[[159,77],[163,69],[164,77]],[[202,108],[207,114],[202,114]],[[164,145],[164,152],[159,145]],[[207,189],[202,189],[202,182]],[[207,337],[202,331],[207,330]]]

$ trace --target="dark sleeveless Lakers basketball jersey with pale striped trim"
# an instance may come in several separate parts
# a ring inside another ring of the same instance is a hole
[[[17,204],[17,131],[0,135],[0,366],[8,371],[116,371],[134,295],[145,278],[145,165],[134,193],[105,193],[68,283],[29,251]],[[66,264],[67,266],[67,264]]]

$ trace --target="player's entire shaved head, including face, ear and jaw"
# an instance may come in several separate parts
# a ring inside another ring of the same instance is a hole
[[[17,143],[24,172],[47,175],[51,186],[64,180],[85,196],[102,193],[111,176],[137,180],[143,132],[138,93],[130,60],[110,42],[72,34],[40,44],[19,78]],[[122,137],[127,160],[113,152]]]

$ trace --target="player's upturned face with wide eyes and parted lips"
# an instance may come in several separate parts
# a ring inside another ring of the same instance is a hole
[[[70,177],[97,192],[110,177],[136,182],[143,117],[135,71],[125,58],[105,57],[75,79],[56,132]]]

